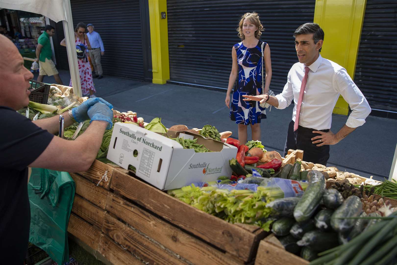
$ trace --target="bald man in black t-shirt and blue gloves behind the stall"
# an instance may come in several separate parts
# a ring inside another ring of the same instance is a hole
[[[113,106],[103,99],[85,101],[64,113],[65,127],[91,119],[74,141],[54,137],[59,116],[31,120],[16,112],[29,104],[29,80],[16,46],[0,35],[0,263],[23,264],[29,240],[28,167],[81,172],[98,153],[105,129],[112,128]]]

